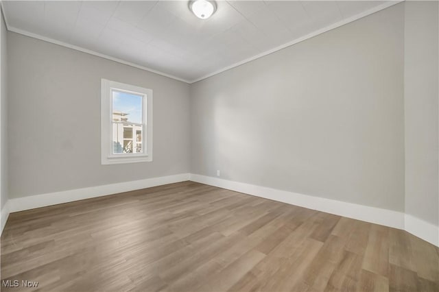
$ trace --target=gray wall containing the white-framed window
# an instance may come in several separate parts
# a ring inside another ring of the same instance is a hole
[[[10,198],[189,172],[189,85],[10,32]],[[101,78],[154,90],[154,161],[101,165]]]

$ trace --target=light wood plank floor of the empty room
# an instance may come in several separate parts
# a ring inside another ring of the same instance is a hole
[[[11,214],[1,279],[38,281],[38,291],[439,291],[439,249],[181,182]]]

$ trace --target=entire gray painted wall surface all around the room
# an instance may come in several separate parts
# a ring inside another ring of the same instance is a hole
[[[218,169],[438,224],[438,3],[394,5],[191,86],[10,32],[8,108],[1,25],[1,207],[8,181],[23,197]],[[154,90],[154,162],[100,165],[102,77]]]

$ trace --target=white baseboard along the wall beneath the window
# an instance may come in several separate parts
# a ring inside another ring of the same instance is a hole
[[[191,175],[189,173],[181,173],[158,178],[147,178],[145,180],[134,180],[132,182],[119,182],[117,184],[106,184],[103,186],[76,188],[69,191],[19,197],[16,199],[9,199],[9,210],[10,212],[19,212],[23,210],[79,201],[80,199],[90,199],[92,197],[102,197],[104,195],[135,191],[141,188],[150,188],[152,186],[161,186],[163,184],[173,184],[174,182],[184,182],[189,180],[190,176]]]

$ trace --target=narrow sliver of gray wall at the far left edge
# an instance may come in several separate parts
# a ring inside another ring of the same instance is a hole
[[[7,58],[7,45],[6,45],[6,25],[3,20],[3,14],[0,12],[0,69],[1,69],[1,83],[0,83],[0,209],[3,209],[3,206],[5,206],[6,202],[8,201],[8,103],[6,99],[6,93],[7,93],[7,71],[8,71],[8,58]]]

